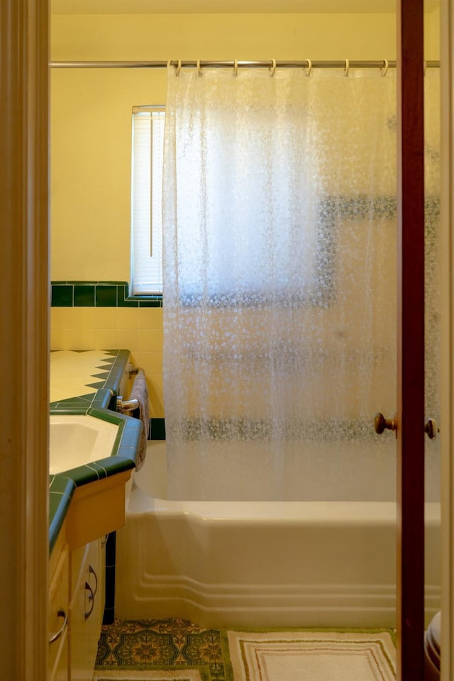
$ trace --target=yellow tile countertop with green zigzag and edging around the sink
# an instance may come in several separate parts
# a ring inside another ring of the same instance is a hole
[[[116,423],[112,455],[49,477],[50,553],[74,489],[135,467],[142,423],[115,411],[129,350],[55,350],[50,353],[50,414],[89,414]]]

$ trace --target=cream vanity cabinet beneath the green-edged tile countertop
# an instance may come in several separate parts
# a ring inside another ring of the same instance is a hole
[[[128,428],[128,443],[140,432],[136,425]],[[106,536],[125,523],[132,470],[127,457],[118,461],[118,470],[106,477],[77,481],[65,505],[49,563],[48,681],[92,681],[94,675],[105,606]]]

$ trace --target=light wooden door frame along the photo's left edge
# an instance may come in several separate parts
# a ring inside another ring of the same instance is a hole
[[[0,3],[1,677],[48,653],[48,0]]]

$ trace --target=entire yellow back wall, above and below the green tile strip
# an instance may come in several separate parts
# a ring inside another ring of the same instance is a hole
[[[436,13],[426,56],[438,58]],[[54,16],[52,60],[396,57],[392,14]],[[131,109],[165,70],[52,70],[51,279],[128,281]],[[51,348],[129,348],[163,416],[162,309],[53,307]]]

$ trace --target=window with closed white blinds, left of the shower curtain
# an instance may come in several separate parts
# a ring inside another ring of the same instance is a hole
[[[162,152],[164,106],[133,107],[131,292],[162,293]]]

